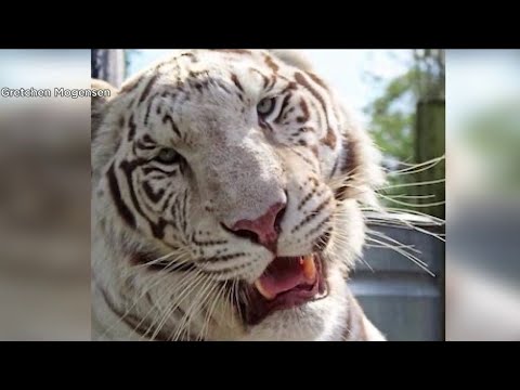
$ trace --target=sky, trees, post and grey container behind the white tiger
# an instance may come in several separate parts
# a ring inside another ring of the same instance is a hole
[[[170,50],[93,50],[92,76],[119,87]],[[302,50],[382,151],[386,212],[349,285],[389,340],[444,339],[442,50]]]

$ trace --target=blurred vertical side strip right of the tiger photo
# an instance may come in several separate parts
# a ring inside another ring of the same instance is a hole
[[[446,339],[520,340],[520,50],[446,73]]]

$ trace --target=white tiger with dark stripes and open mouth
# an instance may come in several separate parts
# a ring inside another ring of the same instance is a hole
[[[379,154],[307,58],[176,51],[109,88],[92,99],[93,339],[385,340],[347,283]]]

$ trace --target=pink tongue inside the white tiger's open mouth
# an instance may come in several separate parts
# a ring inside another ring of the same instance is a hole
[[[268,300],[297,286],[312,285],[316,278],[313,256],[276,258],[255,282],[258,291]]]

